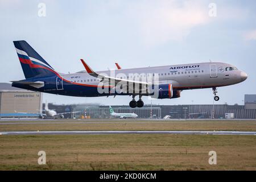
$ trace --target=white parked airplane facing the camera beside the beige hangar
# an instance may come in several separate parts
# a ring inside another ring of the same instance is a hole
[[[48,102],[47,101],[46,101],[46,105],[44,106],[43,111],[45,111],[46,114],[43,114],[43,113],[22,113],[22,112],[17,112],[17,111],[15,111],[15,113],[19,113],[19,114],[37,114],[42,119],[45,119],[45,118],[53,118],[53,119],[64,118],[63,114],[80,113],[80,111],[57,113],[55,110],[48,109]]]

